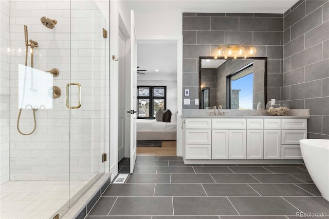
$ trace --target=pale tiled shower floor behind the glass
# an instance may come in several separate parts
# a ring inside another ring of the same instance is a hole
[[[101,175],[90,180],[8,181],[1,185],[1,218],[62,216]]]

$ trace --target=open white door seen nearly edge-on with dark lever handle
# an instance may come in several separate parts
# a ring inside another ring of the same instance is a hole
[[[136,147],[136,119],[137,119],[137,43],[136,43],[136,30],[134,11],[131,11],[131,74],[130,74],[130,172],[134,171],[135,161],[137,156]]]

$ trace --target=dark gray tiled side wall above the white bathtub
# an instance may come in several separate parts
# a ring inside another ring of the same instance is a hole
[[[329,138],[328,1],[299,1],[283,17],[283,99],[310,109],[308,138]]]

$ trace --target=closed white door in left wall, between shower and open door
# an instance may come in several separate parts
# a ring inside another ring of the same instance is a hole
[[[118,41],[118,162],[120,162],[125,155],[125,37],[120,28]]]

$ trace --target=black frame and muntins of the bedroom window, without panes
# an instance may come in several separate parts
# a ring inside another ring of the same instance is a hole
[[[150,96],[138,96],[138,90],[139,88],[149,88],[150,90]],[[153,95],[153,90],[154,88],[164,88],[165,89],[165,96],[163,97],[154,97]],[[149,99],[150,100],[150,105],[149,105],[149,117],[139,117],[139,99]],[[163,103],[163,110],[167,109],[167,86],[137,86],[137,119],[155,119],[153,117],[153,100],[154,99],[164,99]],[[152,117],[151,117],[152,116]]]

